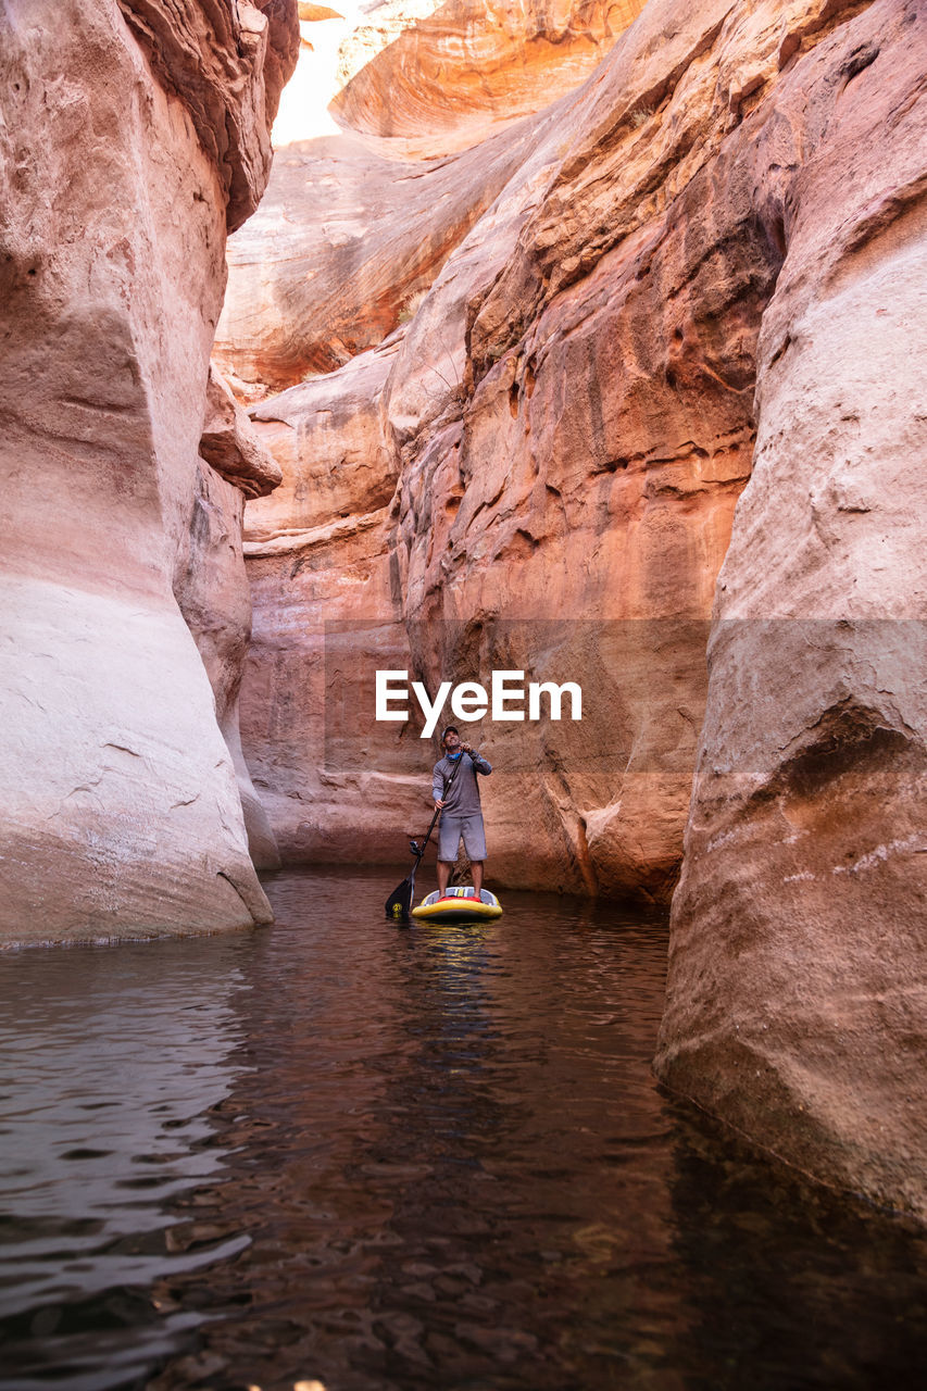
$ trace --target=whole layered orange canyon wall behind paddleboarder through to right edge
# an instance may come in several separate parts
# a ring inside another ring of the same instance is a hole
[[[231,245],[221,362],[284,476],[242,690],[283,854],[422,829],[431,744],[374,725],[374,668],[582,679],[582,725],[475,727],[496,881],[682,867],[660,1075],[923,1216],[923,7],[650,0],[533,110],[451,82],[436,147],[383,93],[455,15],[351,78],[354,132],[291,147]]]

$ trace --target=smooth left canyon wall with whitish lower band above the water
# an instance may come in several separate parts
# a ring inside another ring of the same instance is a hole
[[[196,645],[248,630],[242,492],[199,445],[225,231],[295,60],[295,6],[263,8],[0,21],[6,942],[269,915]]]

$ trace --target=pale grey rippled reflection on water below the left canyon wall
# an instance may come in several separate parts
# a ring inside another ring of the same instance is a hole
[[[64,1384],[122,1385],[200,1321],[146,1287],[248,1241],[185,1251],[171,1210],[223,1163],[210,1109],[241,1071],[242,990],[225,942],[0,958],[4,1384],[65,1363]]]

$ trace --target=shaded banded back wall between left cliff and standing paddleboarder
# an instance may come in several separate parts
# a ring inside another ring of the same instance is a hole
[[[284,481],[248,508],[256,623],[242,733],[290,860],[394,857],[397,791],[423,804],[402,778],[408,739],[397,747],[398,732],[372,729],[340,677],[358,662],[373,673],[409,659],[390,583],[395,459],[383,409],[399,344],[253,410]]]

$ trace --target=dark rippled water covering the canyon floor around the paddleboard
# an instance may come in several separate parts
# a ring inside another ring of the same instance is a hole
[[[667,926],[397,875],[277,925],[0,958],[0,1384],[921,1387],[927,1242],[650,1074]]]

